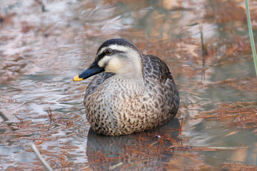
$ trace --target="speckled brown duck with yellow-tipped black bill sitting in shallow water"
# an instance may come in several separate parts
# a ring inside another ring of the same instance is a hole
[[[91,76],[95,77],[86,88],[84,106],[96,133],[128,135],[151,130],[178,112],[178,89],[166,63],[141,54],[124,38],[104,41],[91,66],[73,81]]]

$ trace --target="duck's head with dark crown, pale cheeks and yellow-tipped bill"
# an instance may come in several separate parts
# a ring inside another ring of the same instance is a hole
[[[133,78],[142,77],[143,58],[140,51],[124,38],[105,41],[99,47],[94,63],[73,80],[81,81],[104,71]]]

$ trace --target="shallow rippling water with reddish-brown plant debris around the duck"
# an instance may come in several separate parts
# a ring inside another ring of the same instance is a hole
[[[257,81],[244,12],[243,1],[3,1],[0,169],[44,170],[34,142],[55,170],[256,170]],[[90,79],[72,78],[103,41],[120,37],[166,61],[181,106],[162,128],[113,138],[89,130]]]

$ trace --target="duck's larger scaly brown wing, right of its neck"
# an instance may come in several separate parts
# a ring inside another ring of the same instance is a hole
[[[176,115],[179,105],[179,95],[176,84],[166,63],[160,58],[143,55],[144,82],[148,88],[148,96],[152,97],[158,110]]]

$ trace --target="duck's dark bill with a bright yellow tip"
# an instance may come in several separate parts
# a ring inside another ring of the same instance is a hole
[[[74,76],[74,81],[81,81],[101,72],[104,72],[104,68],[101,68],[97,61],[94,61],[94,63],[92,63],[92,65],[86,71]]]

